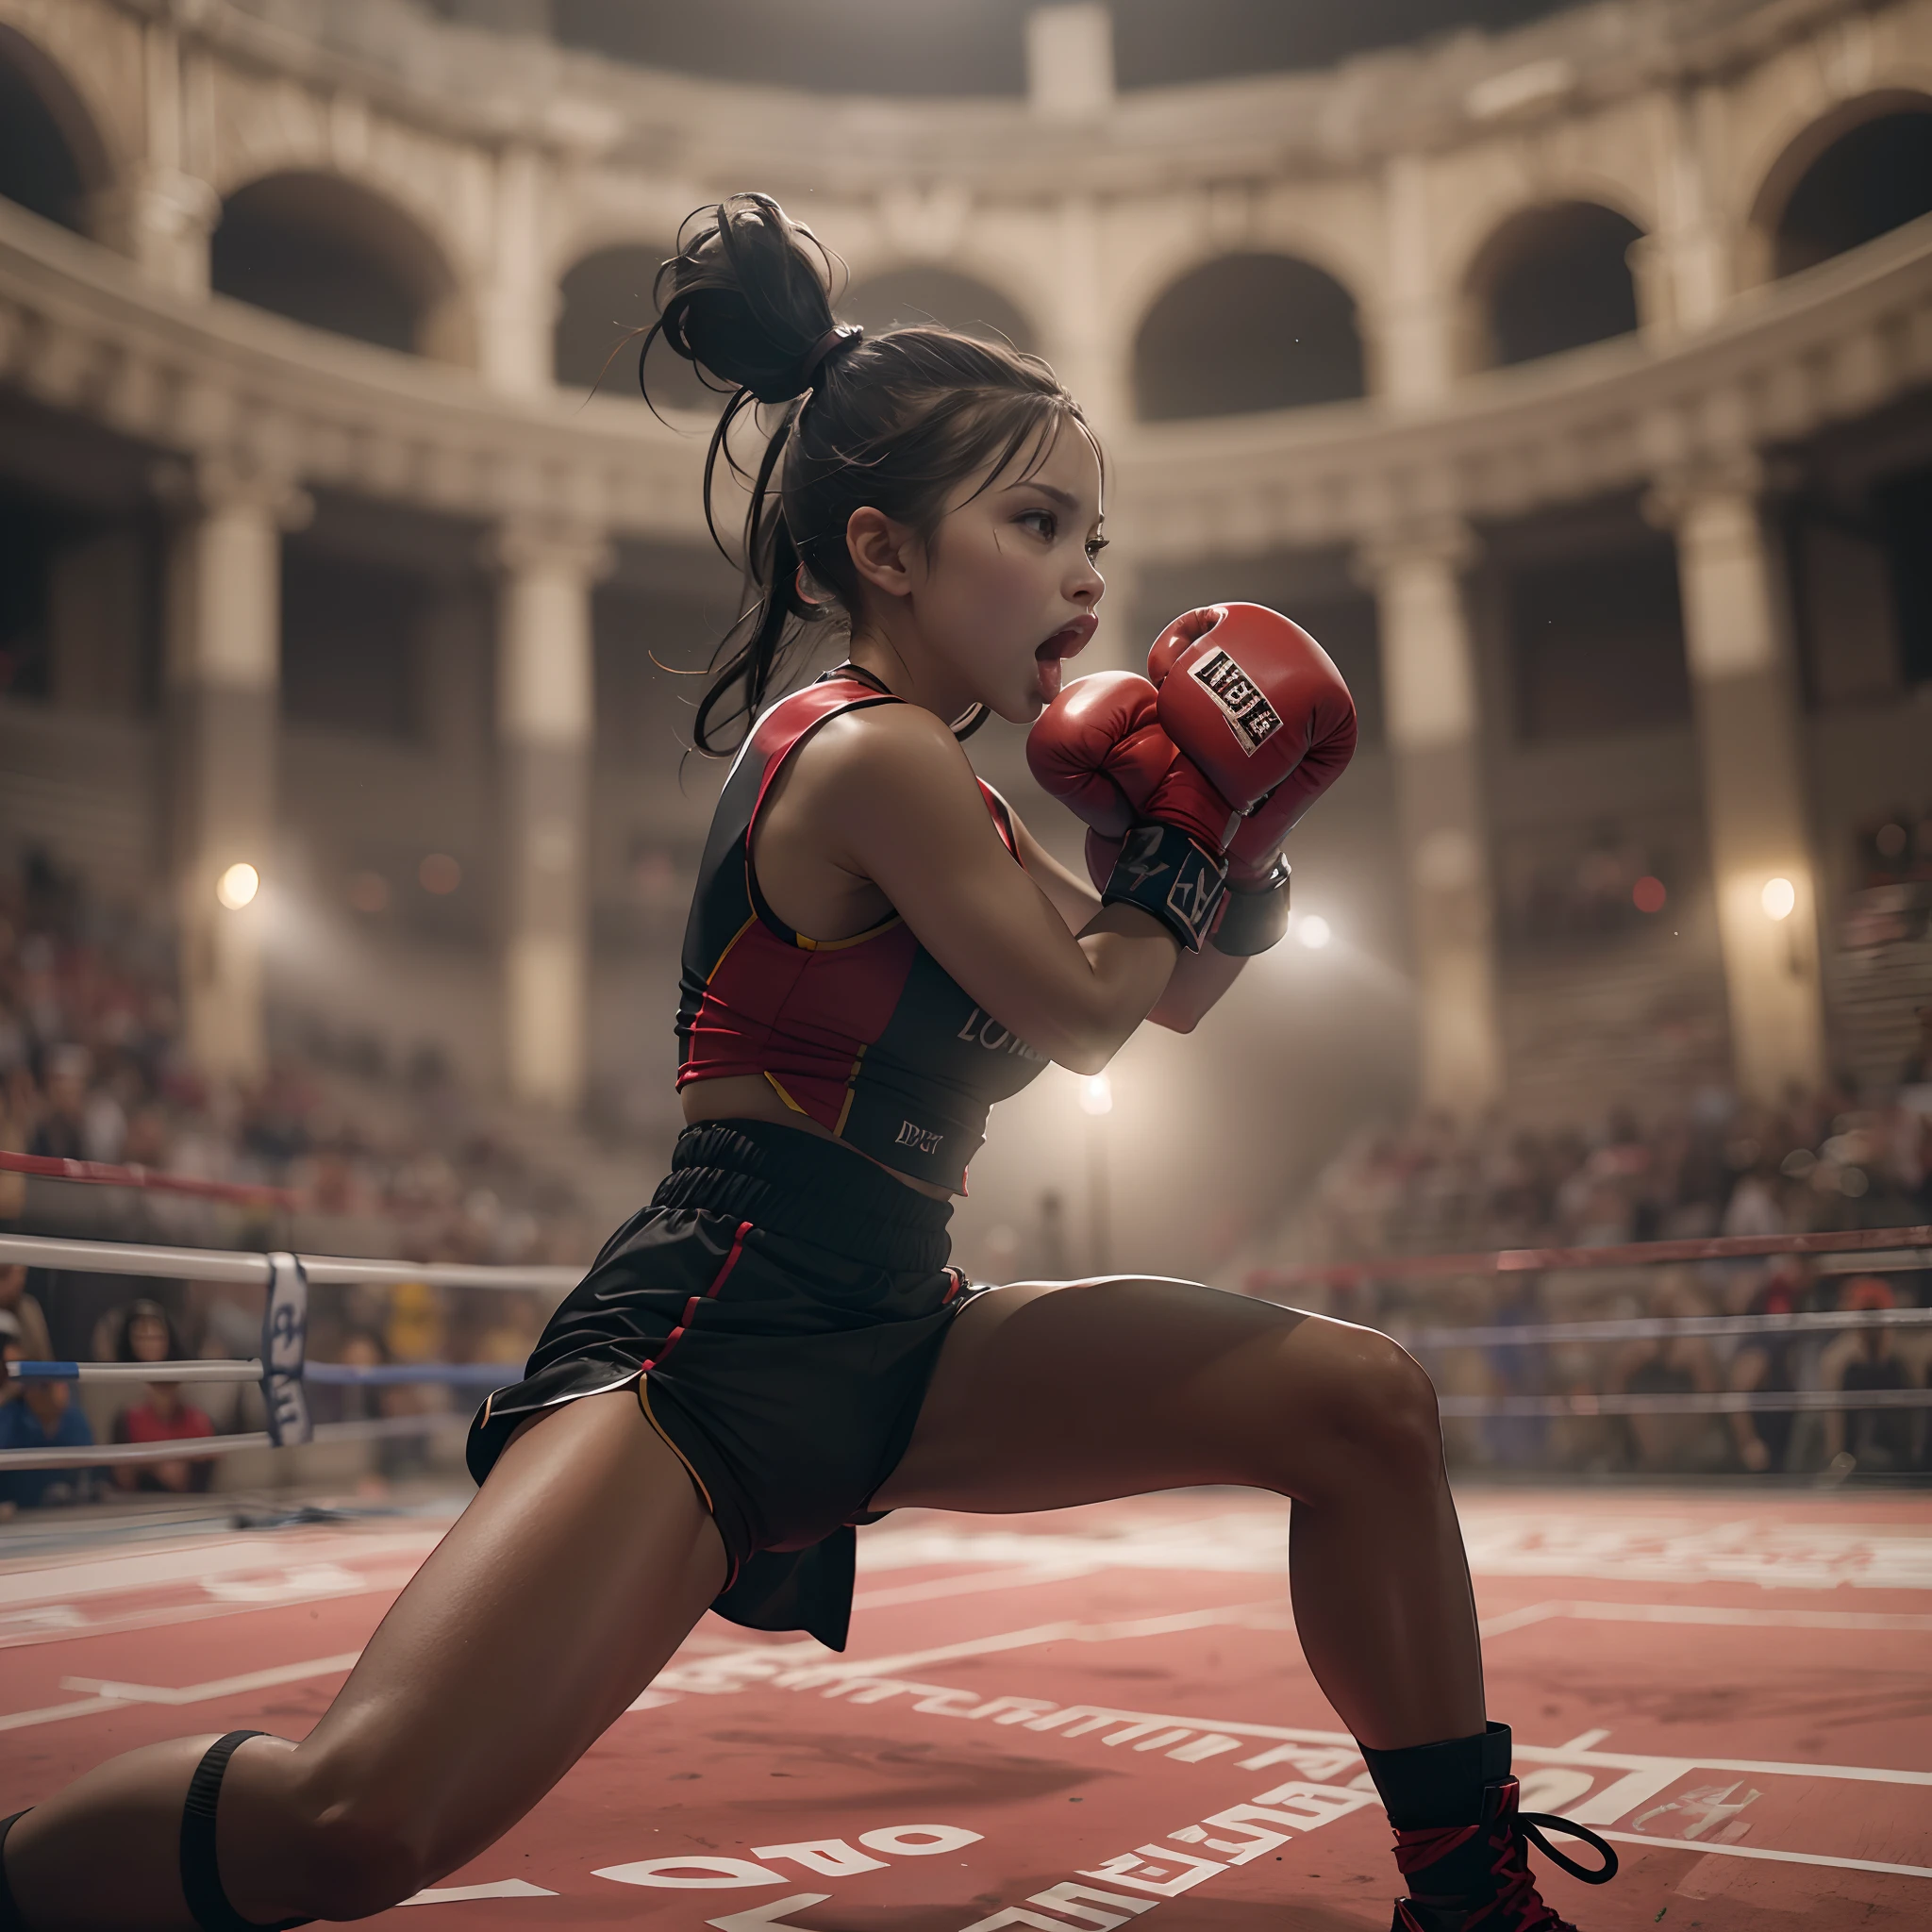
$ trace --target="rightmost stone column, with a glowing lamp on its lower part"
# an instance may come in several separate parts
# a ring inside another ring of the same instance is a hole
[[[1797,672],[1760,493],[1745,458],[1667,477],[1648,510],[1677,531],[1731,1063],[1747,1099],[1777,1101],[1822,1086],[1826,1037]]]

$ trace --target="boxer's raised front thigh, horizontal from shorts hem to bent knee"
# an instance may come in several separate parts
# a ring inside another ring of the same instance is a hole
[[[1408,1374],[1383,1335],[1192,1281],[993,1289],[952,1325],[873,1505],[1065,1509],[1221,1482],[1312,1497],[1364,1391]]]

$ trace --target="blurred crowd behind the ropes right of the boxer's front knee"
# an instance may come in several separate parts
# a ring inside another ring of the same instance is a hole
[[[1321,1175],[1302,1258],[1932,1225],[1932,1007],[1918,1018],[1897,1086],[1878,1099],[1793,1095],[1783,1107],[1745,1107],[1710,1095],[1648,1124],[1619,1109],[1594,1134],[1459,1126],[1445,1117],[1368,1134]],[[1435,1325],[1878,1314],[1932,1300],[1932,1269],[1874,1265],[1847,1254],[1385,1277],[1339,1291],[1331,1308],[1412,1337]],[[1445,1395],[1553,1395],[1577,1410],[1451,1422],[1451,1451],[1464,1466],[1839,1476],[1932,1466],[1922,1406],[1590,1412],[1604,1395],[1920,1391],[1932,1370],[1924,1327],[1435,1347],[1424,1358]]]

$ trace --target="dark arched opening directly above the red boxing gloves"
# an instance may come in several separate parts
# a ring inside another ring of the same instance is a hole
[[[1300,255],[1221,255],[1171,282],[1134,332],[1144,423],[1366,394],[1354,296]]]

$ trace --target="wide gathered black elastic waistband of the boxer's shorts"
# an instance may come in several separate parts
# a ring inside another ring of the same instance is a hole
[[[653,1208],[736,1213],[871,1267],[947,1265],[952,1202],[933,1200],[850,1148],[769,1121],[684,1128]]]

